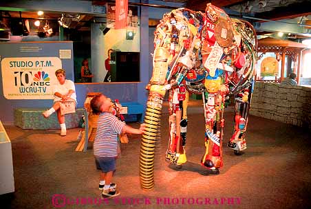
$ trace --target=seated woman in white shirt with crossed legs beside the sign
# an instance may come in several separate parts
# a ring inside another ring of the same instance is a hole
[[[53,112],[57,112],[57,119],[61,125],[61,136],[66,135],[65,115],[62,115],[61,109],[64,107],[63,101],[69,101],[70,106],[76,106],[76,88],[74,82],[66,79],[66,72],[58,69],[55,72],[58,83],[53,87],[54,105],[50,110],[43,112],[45,118],[50,117]]]

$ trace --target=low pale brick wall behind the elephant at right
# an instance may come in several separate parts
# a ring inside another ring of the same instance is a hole
[[[311,88],[277,83],[256,83],[250,115],[311,130]]]

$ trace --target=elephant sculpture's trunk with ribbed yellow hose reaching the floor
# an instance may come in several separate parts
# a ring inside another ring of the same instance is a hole
[[[160,142],[162,102],[165,95],[165,77],[168,70],[168,51],[156,48],[153,55],[153,76],[149,83],[144,123],[146,128],[140,143],[140,186],[143,190],[151,190],[154,186],[154,153]]]

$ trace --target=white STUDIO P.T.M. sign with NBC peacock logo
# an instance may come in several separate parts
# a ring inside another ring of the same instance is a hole
[[[3,95],[6,99],[52,99],[62,68],[58,57],[6,57],[1,61]]]

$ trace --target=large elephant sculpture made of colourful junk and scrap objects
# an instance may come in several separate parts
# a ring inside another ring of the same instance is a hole
[[[245,132],[255,81],[256,33],[250,23],[230,19],[224,10],[206,5],[205,12],[186,8],[164,14],[154,32],[153,74],[140,144],[140,185],[154,186],[154,150],[160,141],[160,117],[169,98],[169,146],[166,159],[186,162],[186,108],[189,94],[202,94],[205,153],[201,164],[212,174],[222,167],[224,104],[235,97],[235,128],[227,146],[239,155],[246,149]],[[203,139],[202,139],[203,142]]]

